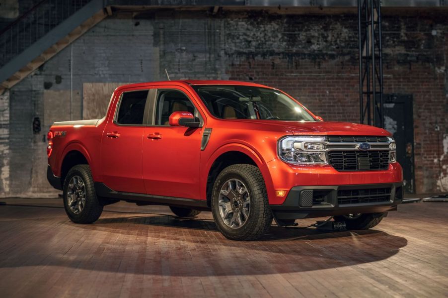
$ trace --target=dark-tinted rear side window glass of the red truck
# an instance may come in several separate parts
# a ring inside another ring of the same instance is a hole
[[[123,93],[117,115],[118,124],[143,124],[148,90]]]

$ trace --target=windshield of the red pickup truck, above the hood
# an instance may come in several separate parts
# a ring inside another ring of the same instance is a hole
[[[221,119],[316,121],[298,102],[277,90],[241,85],[192,87],[212,115]]]

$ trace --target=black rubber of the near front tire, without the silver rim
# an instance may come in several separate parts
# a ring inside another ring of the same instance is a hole
[[[237,228],[231,228],[224,222],[219,209],[221,189],[231,179],[237,179],[244,183],[250,198],[248,216],[244,223]],[[260,170],[248,164],[236,164],[225,168],[218,175],[213,186],[212,213],[218,229],[228,239],[248,241],[264,235],[271,226],[272,212]]]

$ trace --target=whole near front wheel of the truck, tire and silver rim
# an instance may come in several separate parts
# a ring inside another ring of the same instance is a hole
[[[225,168],[213,186],[212,214],[228,239],[254,240],[265,234],[272,212],[260,170],[247,164]]]

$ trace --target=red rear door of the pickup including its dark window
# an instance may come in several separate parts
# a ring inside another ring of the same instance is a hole
[[[104,129],[101,142],[103,183],[114,191],[145,193],[142,150],[149,93],[149,89],[123,92],[113,121],[108,121]]]

